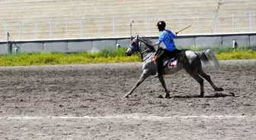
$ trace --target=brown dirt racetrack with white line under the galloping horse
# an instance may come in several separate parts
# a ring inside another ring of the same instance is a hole
[[[256,139],[256,60],[203,67],[216,86],[184,70],[165,76],[172,98],[146,79],[126,99],[142,63],[0,67],[0,139]],[[235,95],[235,96],[232,96]]]

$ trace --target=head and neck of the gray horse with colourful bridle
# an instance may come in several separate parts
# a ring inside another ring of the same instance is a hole
[[[140,53],[143,54],[145,52],[155,52],[155,48],[152,47],[152,42],[149,39],[139,38],[139,36],[136,36],[130,44],[130,47],[127,49],[126,56],[131,56],[136,51],[140,51]]]

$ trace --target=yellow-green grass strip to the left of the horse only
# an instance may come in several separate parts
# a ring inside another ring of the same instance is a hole
[[[126,57],[126,48],[104,49],[98,52],[20,53],[0,56],[0,66],[28,66],[49,64],[95,64],[139,61],[138,55]]]

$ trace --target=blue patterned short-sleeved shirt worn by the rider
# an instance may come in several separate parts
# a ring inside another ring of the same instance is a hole
[[[176,39],[176,35],[174,35],[170,30],[164,30],[162,31],[162,33],[159,36],[159,43],[164,42],[165,43],[165,48],[168,51],[174,51],[175,47],[175,43],[174,43],[174,39]]]

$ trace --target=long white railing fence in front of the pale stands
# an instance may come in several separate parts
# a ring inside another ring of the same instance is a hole
[[[7,33],[10,33],[12,40],[130,36],[130,23],[133,20],[133,34],[143,36],[158,35],[158,30],[155,27],[158,20],[165,20],[168,29],[174,31],[192,25],[181,33],[183,35],[191,33],[253,33],[256,31],[254,17],[254,13],[232,13],[0,23],[0,40],[5,41]]]

